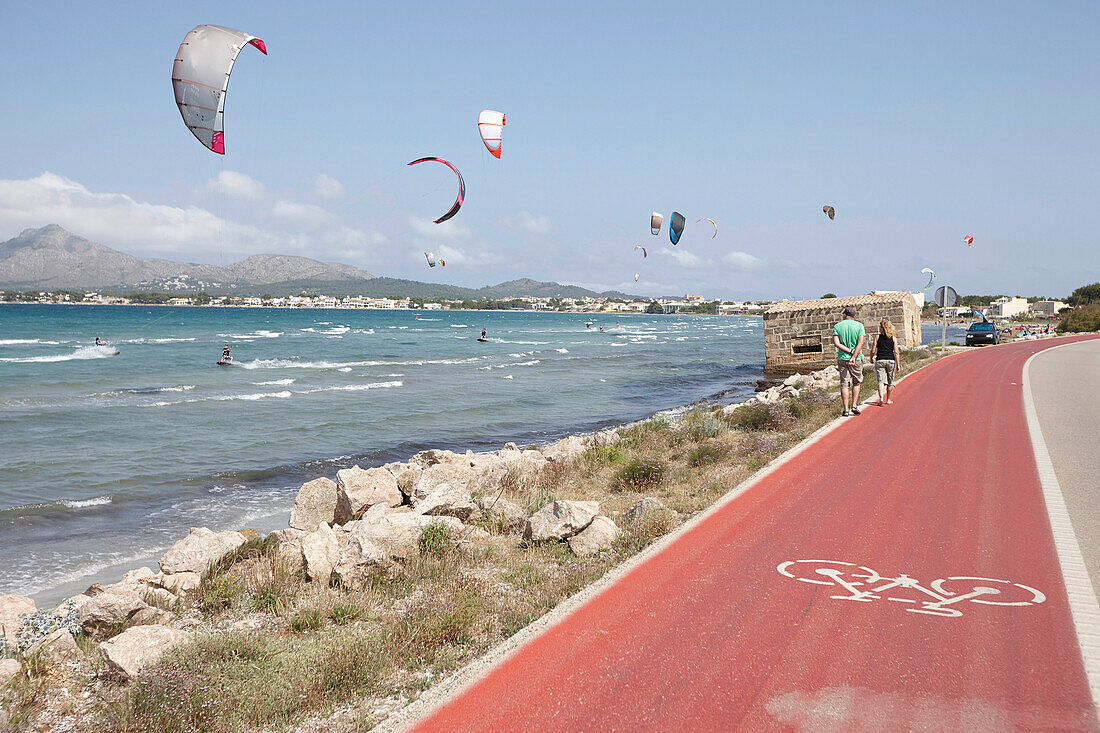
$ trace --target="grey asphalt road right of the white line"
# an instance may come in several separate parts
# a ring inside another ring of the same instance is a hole
[[[1031,385],[1043,440],[1100,595],[1100,340],[1044,351],[1031,364]]]

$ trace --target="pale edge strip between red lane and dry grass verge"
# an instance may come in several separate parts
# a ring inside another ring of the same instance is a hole
[[[906,372],[900,376],[897,383],[920,373],[924,369],[930,366],[935,366],[941,362],[952,359],[953,357],[958,357],[966,353],[974,353],[970,351],[958,351],[955,353],[944,354],[936,361],[925,364],[921,369],[915,371]],[[838,397],[839,398],[839,397]],[[866,398],[860,405],[869,405],[878,396],[873,398]],[[372,731],[377,731],[378,733],[395,733],[397,731],[407,732],[411,731],[418,723],[424,722],[437,710],[441,709],[449,700],[458,698],[460,694],[472,688],[479,681],[487,677],[497,667],[505,664],[515,654],[517,654],[524,646],[538,636],[549,632],[554,626],[560,624],[565,620],[566,616],[572,614],[574,611],[586,604],[588,601],[595,599],[597,595],[603,593],[607,588],[618,582],[623,577],[631,572],[639,565],[648,561],[656,555],[664,551],[670,545],[675,543],[680,537],[688,534],[694,529],[697,525],[705,522],[712,514],[716,514],[723,507],[725,507],[730,502],[739,499],[749,489],[755,486],[759,481],[771,475],[780,468],[785,466],[791,460],[795,459],[802,455],[811,446],[820,441],[826,435],[837,429],[849,419],[848,417],[836,417],[832,422],[826,423],[821,426],[809,436],[802,439],[798,445],[788,449],[785,452],[777,456],[767,466],[760,468],[749,477],[747,477],[739,484],[730,489],[725,495],[721,496],[717,501],[711,504],[708,507],[684,522],[682,525],[664,535],[663,537],[657,539],[649,547],[641,550],[634,557],[623,561],[616,567],[608,570],[600,579],[585,586],[579,590],[573,595],[561,601],[553,609],[548,611],[542,616],[539,616],[527,626],[516,632],[508,638],[501,642],[495,647],[485,652],[480,657],[470,660],[455,671],[451,672],[448,677],[444,677],[439,682],[433,685],[430,689],[426,690],[424,694],[418,697],[416,700],[409,702],[403,710],[394,713],[387,720],[380,723],[376,727],[371,729]]]

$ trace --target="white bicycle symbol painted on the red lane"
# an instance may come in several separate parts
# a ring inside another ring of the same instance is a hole
[[[925,588],[920,580],[905,573],[897,578],[884,578],[870,568],[839,560],[788,560],[780,562],[776,569],[788,578],[804,583],[839,586],[849,593],[829,597],[839,601],[870,603],[883,598],[882,594],[887,591],[913,591],[912,594],[917,598],[894,594],[884,598],[899,603],[919,603],[921,608],[905,610],[934,616],[961,616],[963,612],[952,606],[963,601],[985,605],[1036,605],[1046,600],[1046,595],[1034,588],[996,578],[952,576],[933,580]],[[921,593],[927,598],[922,598]]]

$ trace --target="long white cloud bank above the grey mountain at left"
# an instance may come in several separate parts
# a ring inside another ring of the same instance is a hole
[[[319,234],[272,231],[221,219],[195,206],[139,201],[125,194],[100,194],[54,173],[21,180],[0,179],[0,231],[56,223],[81,237],[138,252],[179,259],[200,253],[237,256],[258,252],[324,259],[358,252],[386,238],[337,227]]]

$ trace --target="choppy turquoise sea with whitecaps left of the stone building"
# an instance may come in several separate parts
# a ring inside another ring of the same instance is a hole
[[[344,466],[735,398],[762,363],[752,317],[0,305],[0,593],[282,514]]]

